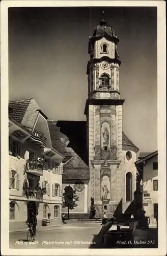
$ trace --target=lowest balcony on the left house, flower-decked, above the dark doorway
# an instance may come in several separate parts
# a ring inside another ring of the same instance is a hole
[[[26,197],[28,200],[35,200],[35,201],[42,201],[43,200],[43,195],[45,195],[45,191],[43,189],[35,188],[35,187],[30,187],[30,188],[23,188],[22,191],[23,197]]]

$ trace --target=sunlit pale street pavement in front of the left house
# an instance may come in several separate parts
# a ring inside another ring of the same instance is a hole
[[[37,230],[36,243],[21,244],[26,242],[26,231],[10,233],[10,248],[89,248],[93,235],[98,234],[101,229],[100,223],[73,223],[57,227],[49,227]],[[60,242],[49,244],[48,242]],[[77,244],[85,242],[85,244]],[[19,244],[20,243],[20,244]],[[62,244],[61,244],[62,243]]]

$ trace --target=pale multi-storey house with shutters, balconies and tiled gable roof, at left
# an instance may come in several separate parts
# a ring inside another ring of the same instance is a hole
[[[32,211],[37,215],[37,227],[61,224],[63,159],[52,147],[47,117],[36,101],[9,102],[11,231],[26,228]]]

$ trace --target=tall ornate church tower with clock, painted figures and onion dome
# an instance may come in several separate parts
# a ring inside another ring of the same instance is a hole
[[[119,39],[107,25],[104,12],[89,39],[87,116],[90,181],[88,206],[95,201],[96,217],[113,215],[123,197],[122,105],[120,99]]]

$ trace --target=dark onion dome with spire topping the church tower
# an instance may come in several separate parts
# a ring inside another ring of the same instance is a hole
[[[93,36],[94,37],[98,37],[98,36],[101,36],[101,35],[104,35],[104,34],[108,34],[109,36],[112,36],[112,37],[116,37],[116,33],[114,31],[114,29],[107,25],[107,22],[104,18],[104,12],[102,12],[102,19],[101,19],[101,22],[100,24],[94,29],[94,32],[93,32]]]

